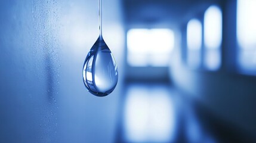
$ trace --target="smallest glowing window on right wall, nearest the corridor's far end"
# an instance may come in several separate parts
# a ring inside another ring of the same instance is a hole
[[[197,19],[187,23],[187,63],[191,67],[201,64],[202,24]]]

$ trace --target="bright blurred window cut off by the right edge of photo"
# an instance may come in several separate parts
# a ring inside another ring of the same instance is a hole
[[[238,63],[245,71],[256,70],[256,0],[238,0]]]

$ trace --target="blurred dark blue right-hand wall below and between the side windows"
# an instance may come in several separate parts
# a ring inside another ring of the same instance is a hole
[[[227,1],[223,7],[224,23],[223,26],[223,51],[233,54],[233,42],[236,42],[233,30],[236,27],[233,17],[236,15],[234,9],[235,1]],[[229,17],[229,18],[227,18]],[[231,18],[230,18],[231,17]],[[232,19],[232,20],[230,20]],[[233,22],[230,24],[230,22]],[[230,34],[231,33],[231,34]],[[239,129],[246,130],[251,135],[256,135],[256,113],[255,106],[255,85],[256,80],[254,76],[246,76],[244,74],[235,73],[227,67],[235,63],[227,57],[229,54],[223,55],[225,67],[223,69],[212,72],[205,69],[190,69],[182,62],[181,39],[184,33],[176,33],[177,45],[174,49],[174,57],[172,58],[170,76],[175,86],[182,89],[189,95],[192,95],[196,101],[199,101],[204,107],[212,111],[220,119],[225,120],[231,125],[236,125]],[[183,47],[184,48],[184,47]],[[232,49],[230,49],[232,48]],[[246,133],[247,133],[246,132]]]

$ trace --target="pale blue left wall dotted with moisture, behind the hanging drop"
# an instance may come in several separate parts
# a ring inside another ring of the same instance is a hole
[[[119,1],[103,2],[104,40],[122,74],[120,15]],[[106,98],[82,83],[97,37],[97,1],[0,2],[0,142],[113,141],[122,77]]]

